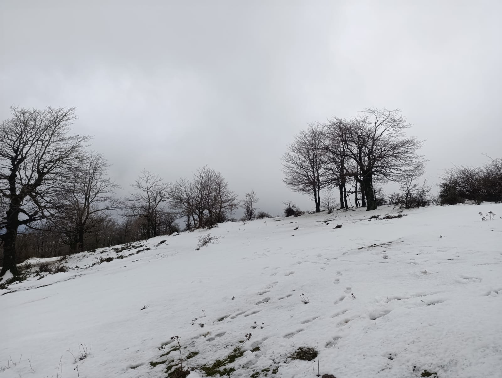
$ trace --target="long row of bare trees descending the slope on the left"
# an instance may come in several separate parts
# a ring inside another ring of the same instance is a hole
[[[0,277],[28,257],[49,257],[213,227],[241,206],[221,173],[207,166],[192,180],[164,182],[141,172],[125,199],[88,136],[72,135],[74,108],[13,107],[0,124]],[[256,196],[252,196],[256,204]],[[256,206],[243,208],[253,219]]]

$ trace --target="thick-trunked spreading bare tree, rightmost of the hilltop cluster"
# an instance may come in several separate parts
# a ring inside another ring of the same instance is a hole
[[[357,164],[366,210],[377,208],[373,180],[403,182],[410,174],[423,170],[423,156],[417,154],[422,142],[406,137],[410,125],[400,111],[366,109],[353,118],[343,132],[346,153]]]

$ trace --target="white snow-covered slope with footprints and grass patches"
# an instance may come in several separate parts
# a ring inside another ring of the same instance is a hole
[[[0,291],[0,378],[166,377],[171,336],[191,378],[216,360],[232,377],[314,377],[318,363],[337,378],[502,377],[502,205],[367,220],[387,213],[225,223],[73,255],[68,272]],[[202,233],[223,238],[197,251]],[[290,358],[300,346],[319,354]]]

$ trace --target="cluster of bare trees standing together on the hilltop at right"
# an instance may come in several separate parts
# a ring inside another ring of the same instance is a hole
[[[347,198],[354,195],[355,206],[375,210],[375,183],[406,182],[423,173],[423,156],[417,154],[422,142],[406,135],[409,127],[399,110],[387,109],[309,125],[283,155],[284,183],[312,196],[316,212],[323,203],[333,206],[331,197],[321,200],[323,188],[338,190],[340,209],[348,209]]]

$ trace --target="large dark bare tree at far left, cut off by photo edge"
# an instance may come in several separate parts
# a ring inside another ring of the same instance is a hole
[[[5,214],[0,220],[7,271],[18,275],[16,240],[19,227],[51,217],[65,182],[82,160],[87,136],[69,135],[74,108],[45,110],[12,108],[12,118],[0,126],[0,197]]]

